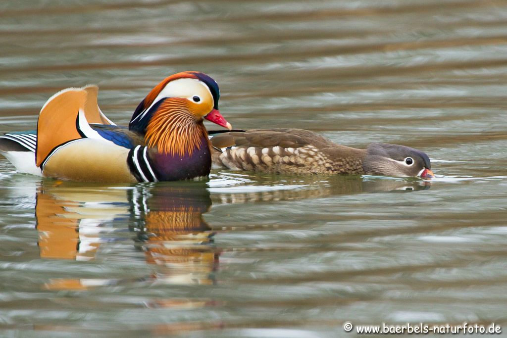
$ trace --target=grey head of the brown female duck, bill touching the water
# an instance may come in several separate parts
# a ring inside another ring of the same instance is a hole
[[[397,144],[371,143],[363,169],[368,175],[434,177],[429,157],[417,149]]]

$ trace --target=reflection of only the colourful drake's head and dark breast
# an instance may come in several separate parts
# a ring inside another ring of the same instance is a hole
[[[210,246],[213,232],[202,214],[211,208],[205,183],[161,183],[132,199],[137,242],[146,260],[170,269],[156,276],[169,283],[210,284],[218,253]],[[136,193],[136,191],[133,191]]]

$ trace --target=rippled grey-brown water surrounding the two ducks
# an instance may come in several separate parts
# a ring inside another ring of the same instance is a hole
[[[96,83],[127,123],[161,79],[219,82],[236,128],[420,148],[431,181],[214,170],[103,186],[0,159],[2,336],[341,336],[507,324],[502,1],[4,1],[0,132]],[[507,328],[505,328],[507,330]],[[350,334],[349,334],[350,335]]]

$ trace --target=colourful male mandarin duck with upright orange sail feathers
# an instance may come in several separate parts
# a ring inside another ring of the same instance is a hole
[[[210,143],[203,119],[232,129],[218,110],[216,82],[185,71],[160,82],[128,127],[108,120],[98,88],[68,88],[42,107],[37,131],[0,136],[0,154],[21,172],[96,182],[156,182],[207,176]]]

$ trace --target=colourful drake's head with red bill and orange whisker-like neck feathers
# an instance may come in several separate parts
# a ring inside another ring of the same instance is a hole
[[[129,129],[163,153],[191,153],[206,129],[203,119],[232,129],[218,109],[218,84],[204,73],[184,71],[160,82],[139,103]]]

